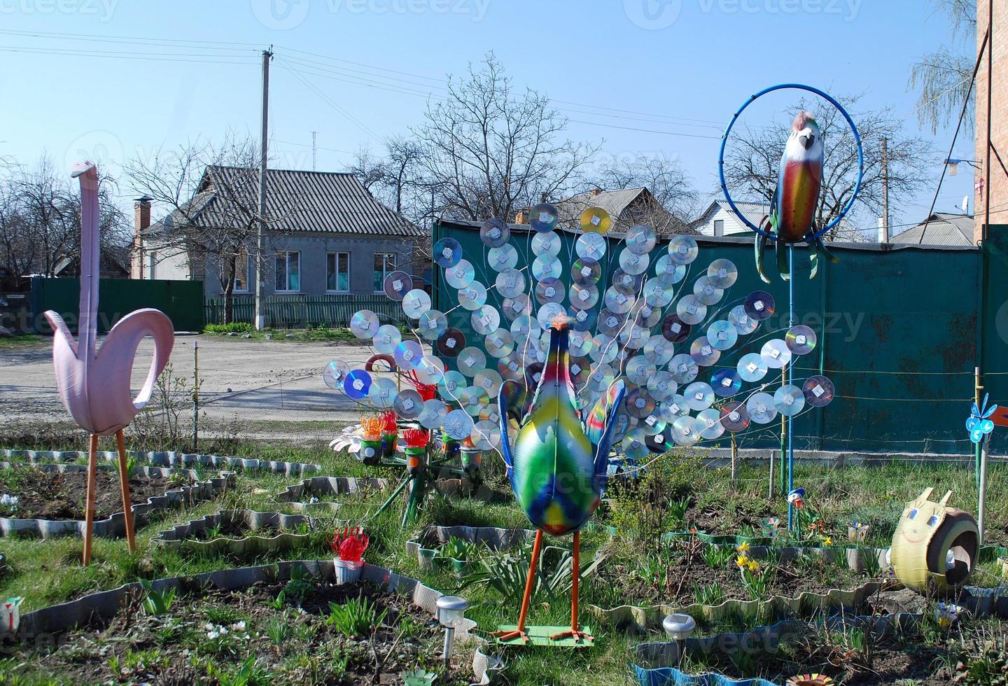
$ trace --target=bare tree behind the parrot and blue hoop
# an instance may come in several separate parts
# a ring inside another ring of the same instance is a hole
[[[910,199],[926,179],[930,144],[922,138],[902,133],[901,122],[888,108],[856,112],[860,96],[839,98],[858,126],[864,150],[865,172],[855,210],[863,220],[874,223],[882,213],[882,139],[888,138],[889,202],[898,205]],[[794,111],[818,103],[802,100]],[[733,133],[725,159],[725,179],[733,193],[747,194],[769,203],[777,187],[780,156],[784,150],[794,111],[781,113],[780,125],[744,128]],[[816,213],[816,226],[836,219],[854,193],[858,173],[857,146],[843,115],[834,107],[817,112],[816,122],[826,145],[823,191]],[[825,238],[831,241],[864,241],[866,235],[850,224],[841,223]],[[847,226],[845,226],[847,225]]]

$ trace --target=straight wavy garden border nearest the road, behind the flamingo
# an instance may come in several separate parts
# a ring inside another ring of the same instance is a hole
[[[299,476],[302,473],[322,471],[322,464],[305,462],[284,462],[282,460],[252,459],[246,457],[227,457],[223,455],[207,455],[202,453],[175,452],[169,450],[127,450],[127,455],[135,457],[138,462],[150,466],[193,467],[206,466],[215,469],[252,469],[281,473],[286,476]],[[88,453],[83,450],[15,450],[5,448],[0,450],[0,456],[10,459],[24,459],[29,463],[38,462],[86,462]],[[114,450],[100,450],[99,459],[107,462],[118,462],[119,453]]]

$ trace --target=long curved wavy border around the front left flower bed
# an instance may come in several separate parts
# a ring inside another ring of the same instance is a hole
[[[193,576],[172,576],[151,581],[150,585],[158,591],[167,588],[181,591],[202,590],[209,587],[238,590],[256,583],[289,579],[290,570],[294,565],[308,571],[320,581],[335,582],[336,580],[332,560],[292,560],[256,567],[221,569]],[[437,598],[444,595],[440,591],[425,586],[416,579],[401,576],[390,569],[373,564],[364,565],[361,579],[376,585],[386,586],[390,590],[406,589],[411,592],[410,600],[413,604],[431,614],[436,614],[435,603]],[[143,592],[139,583],[127,583],[112,590],[90,593],[77,600],[22,613],[20,627],[14,638],[21,642],[37,642],[43,635],[46,635],[48,639],[59,638],[59,635],[76,628],[87,627],[96,620],[109,621],[119,612],[130,598],[137,597]],[[472,633],[477,624],[472,620],[465,622],[466,624],[456,632],[456,641],[460,643],[475,642],[473,673],[476,675],[477,683],[489,684],[490,673],[501,669],[502,664],[496,658],[483,653],[484,641]],[[58,644],[58,641],[54,642],[54,645]]]

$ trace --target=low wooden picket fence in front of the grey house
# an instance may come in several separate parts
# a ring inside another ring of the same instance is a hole
[[[255,298],[236,295],[234,321],[255,321]],[[271,295],[266,298],[266,325],[271,328],[347,327],[361,309],[370,309],[385,323],[403,319],[402,306],[384,294],[367,295]],[[215,296],[204,310],[208,324],[224,323],[224,298]]]

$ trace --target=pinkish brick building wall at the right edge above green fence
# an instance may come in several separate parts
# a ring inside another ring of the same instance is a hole
[[[987,19],[990,3],[994,2],[994,40],[992,55],[994,70],[991,79],[991,143],[1008,165],[1008,2],[1005,0],[977,0],[977,50],[987,33]],[[976,159],[974,180],[984,178],[983,163],[987,158],[987,55],[980,62],[977,73],[977,126]],[[998,156],[991,154],[990,187],[978,188],[974,185],[974,241],[983,237],[984,211],[990,194],[991,224],[1008,224],[1008,174],[1005,173]]]

